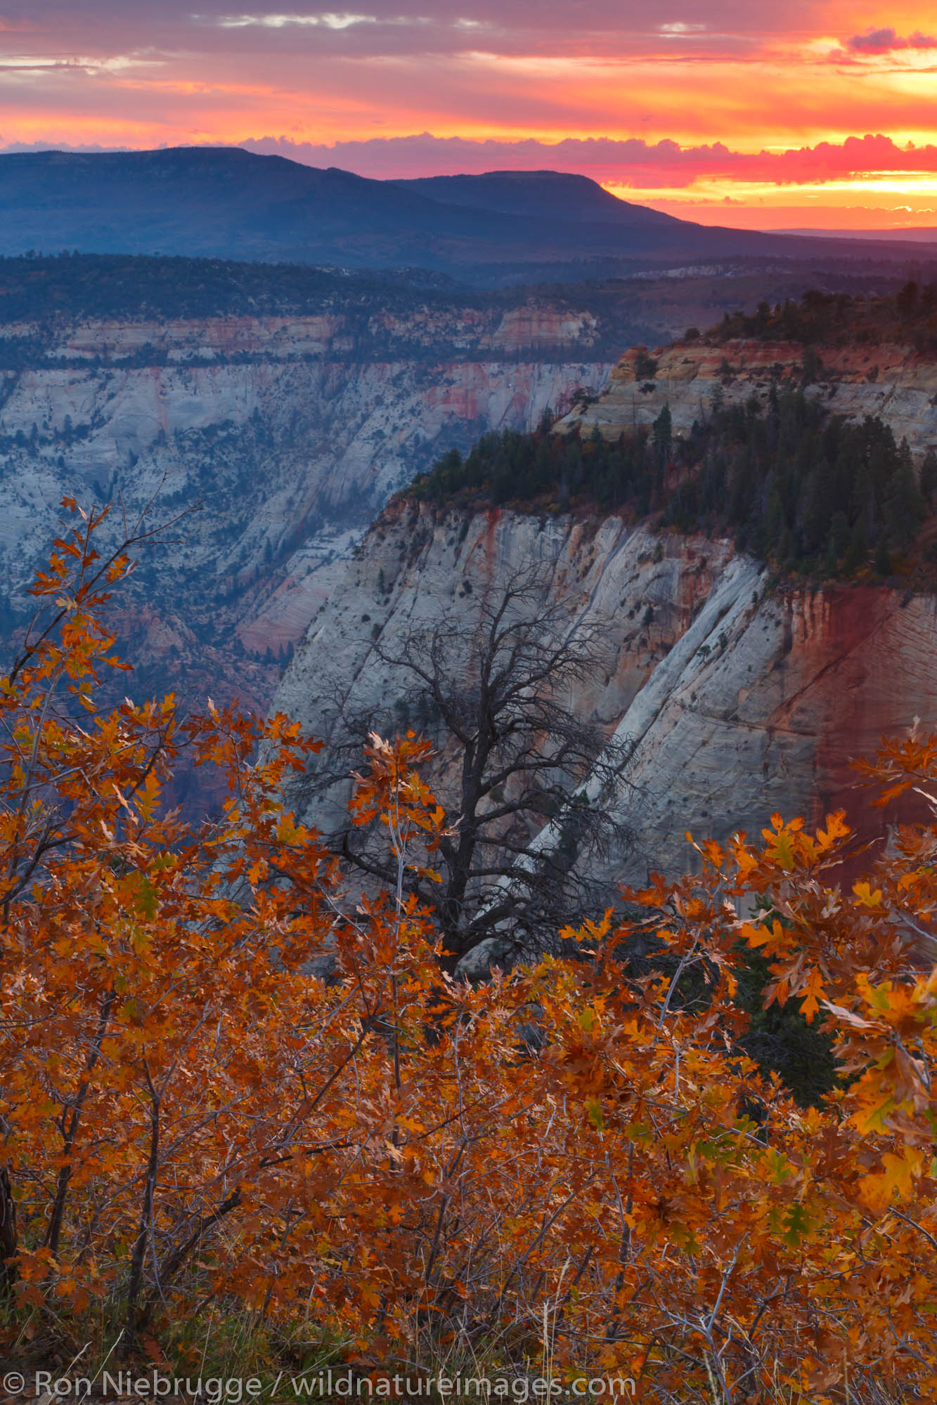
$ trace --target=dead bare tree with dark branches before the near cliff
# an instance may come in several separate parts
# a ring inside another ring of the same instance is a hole
[[[615,899],[592,864],[633,843],[604,804],[623,784],[629,746],[574,704],[577,688],[615,666],[608,631],[566,600],[544,607],[546,594],[544,572],[525,569],[480,604],[471,624],[452,608],[432,625],[376,641],[374,666],[394,705],[338,708],[329,771],[318,777],[325,790],[348,777],[371,731],[409,725],[432,738],[432,780],[446,813],[432,857],[442,882],[419,874],[408,882],[435,912],[450,967],[463,960],[464,969],[483,943],[501,962],[556,948],[563,926]],[[374,881],[394,880],[378,826],[345,826],[331,843]]]

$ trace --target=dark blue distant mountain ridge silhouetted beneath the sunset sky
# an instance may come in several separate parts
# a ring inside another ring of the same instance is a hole
[[[824,254],[855,244],[824,240]],[[893,257],[893,250],[875,246]],[[241,148],[0,156],[0,253],[186,254],[345,268],[421,267],[460,280],[495,266],[612,260],[627,273],[732,257],[816,259],[817,240],[694,225],[618,200],[585,176],[490,171],[381,181]],[[872,246],[864,244],[868,257]],[[609,270],[605,268],[605,273]]]

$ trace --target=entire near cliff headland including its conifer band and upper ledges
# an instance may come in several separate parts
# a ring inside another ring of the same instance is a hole
[[[822,816],[851,794],[850,757],[937,695],[937,365],[884,351],[888,381],[860,374],[867,344],[833,362],[826,346],[692,333],[633,348],[556,423],[450,450],[364,538],[280,704],[325,736],[339,697],[393,728],[404,641],[471,636],[535,563],[544,618],[563,603],[573,634],[601,622],[609,642],[573,694],[632,747],[616,798],[588,792],[637,836],[608,856],[609,881],[671,867],[687,828]],[[324,819],[312,790],[297,797]],[[561,830],[544,823],[542,843]],[[869,815],[865,837],[881,833]]]

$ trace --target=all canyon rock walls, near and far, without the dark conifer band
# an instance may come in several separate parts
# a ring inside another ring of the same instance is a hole
[[[39,263],[27,274],[48,281]],[[46,263],[66,291],[94,273],[77,259]],[[159,292],[159,261],[145,277],[129,263],[114,261],[107,285],[118,305],[114,287],[131,288],[129,308],[101,316],[94,298],[80,306],[52,284],[41,315],[0,318],[7,636],[28,618],[63,496],[111,502],[113,534],[146,510],[170,525],[115,603],[134,691],[173,688],[193,707],[211,691],[257,712],[276,691],[276,707],[328,736],[328,698],[395,695],[377,641],[453,611],[470,628],[485,593],[540,562],[544,603],[561,600],[571,628],[601,620],[616,658],[575,698],[632,752],[613,802],[637,842],[611,857],[609,878],[684,865],[687,829],[725,837],[757,832],[774,811],[819,819],[844,805],[874,837],[895,818],[869,809],[848,759],[914,717],[933,721],[927,592],[785,582],[727,538],[657,534],[620,516],[400,495],[453,445],[532,429],[546,409],[571,406],[556,433],[585,438],[632,433],[667,405],[685,434],[716,400],[764,402],[778,375],[809,381],[833,412],[882,416],[920,462],[937,444],[933,355],[898,341],[816,347],[808,377],[799,343],[670,343],[750,274],[463,295],[311,270],[314,292],[287,298],[262,294],[246,266],[198,264],[200,282],[186,261],[167,264],[179,292]],[[236,296],[196,315],[215,296],[210,274],[236,282]],[[620,354],[637,340],[657,361],[647,379],[636,375],[642,348]],[[324,819],[302,785],[293,799]]]

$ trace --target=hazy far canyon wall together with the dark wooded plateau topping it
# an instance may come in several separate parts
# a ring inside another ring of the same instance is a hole
[[[63,496],[110,502],[111,535],[146,510],[172,525],[118,601],[135,686],[264,712],[374,516],[439,454],[592,399],[623,346],[808,273],[484,292],[421,270],[0,260],[0,635],[30,617]]]

